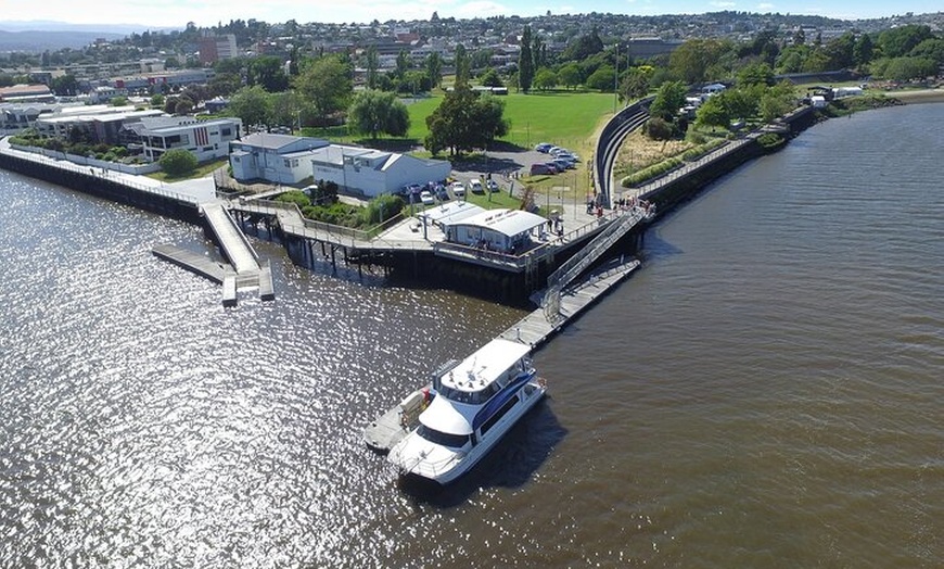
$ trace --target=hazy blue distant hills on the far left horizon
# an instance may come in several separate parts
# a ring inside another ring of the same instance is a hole
[[[0,53],[26,51],[38,53],[63,48],[80,49],[97,39],[123,39],[132,31],[157,31],[139,24],[66,24],[63,22],[7,22],[0,21]]]

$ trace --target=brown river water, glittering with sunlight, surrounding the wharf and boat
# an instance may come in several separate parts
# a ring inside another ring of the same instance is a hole
[[[455,486],[361,428],[523,316],[157,261],[194,227],[0,170],[0,567],[940,567],[944,105],[832,119],[651,228]]]

